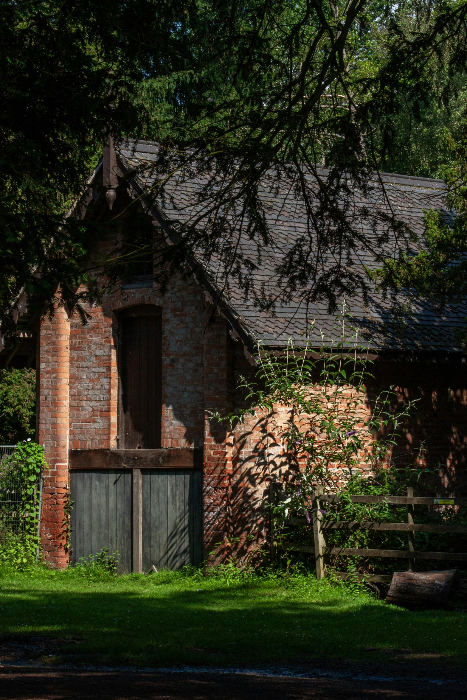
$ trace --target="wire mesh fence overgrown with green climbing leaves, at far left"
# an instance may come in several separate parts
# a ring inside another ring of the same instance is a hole
[[[0,546],[24,535],[38,507],[40,513],[42,474],[32,482],[15,451],[15,445],[0,445]]]

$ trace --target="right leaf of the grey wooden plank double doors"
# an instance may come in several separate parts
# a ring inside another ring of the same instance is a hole
[[[202,472],[142,470],[143,571],[202,561]]]

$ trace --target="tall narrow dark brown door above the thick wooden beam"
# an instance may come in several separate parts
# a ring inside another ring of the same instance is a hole
[[[161,330],[158,307],[144,304],[120,314],[120,448],[160,447]]]

